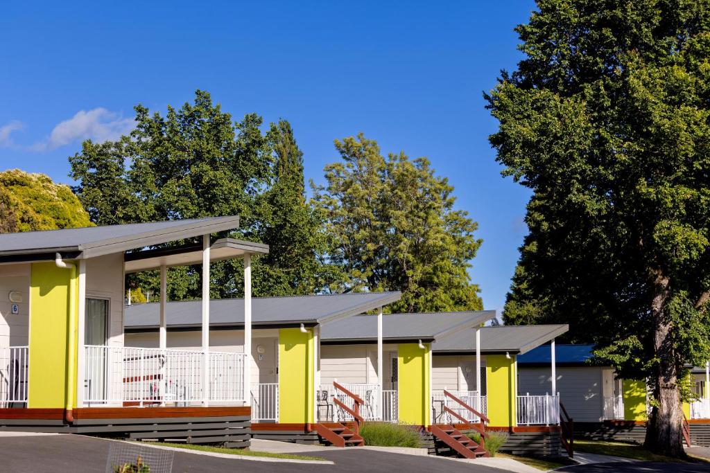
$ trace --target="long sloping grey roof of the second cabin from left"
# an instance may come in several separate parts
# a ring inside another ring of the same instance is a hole
[[[322,296],[255,297],[251,299],[253,325],[290,325],[325,323],[354,316],[398,301],[400,292],[366,294],[329,294]],[[160,304],[126,306],[126,330],[150,331],[160,323]],[[202,301],[168,302],[165,304],[168,328],[200,328]],[[244,299],[216,299],[209,302],[211,327],[244,325]]]

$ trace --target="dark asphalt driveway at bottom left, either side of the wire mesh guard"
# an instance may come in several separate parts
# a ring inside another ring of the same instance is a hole
[[[0,472],[104,472],[110,440],[80,435],[0,437]],[[501,469],[373,450],[309,452],[335,464],[253,462],[175,452],[173,472],[414,472],[501,473]],[[710,471],[710,470],[704,470]]]

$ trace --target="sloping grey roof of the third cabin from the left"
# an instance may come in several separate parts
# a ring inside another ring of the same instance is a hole
[[[392,313],[382,318],[383,340],[433,340],[449,333],[481,325],[496,311]],[[377,317],[356,316],[323,325],[323,343],[353,343],[377,340]]]

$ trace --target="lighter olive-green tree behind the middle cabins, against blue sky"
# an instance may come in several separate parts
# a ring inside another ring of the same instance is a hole
[[[477,224],[454,210],[454,188],[430,162],[403,153],[383,157],[360,134],[336,140],[342,161],[325,167],[313,201],[332,237],[329,261],[340,272],[333,291],[403,292],[391,311],[482,308],[468,269],[481,240]]]

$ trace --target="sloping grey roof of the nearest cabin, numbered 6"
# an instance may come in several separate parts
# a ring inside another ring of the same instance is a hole
[[[0,255],[80,252],[95,257],[239,228],[239,216],[195,218],[0,235]]]

